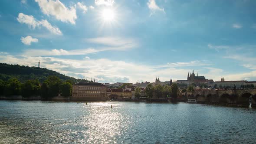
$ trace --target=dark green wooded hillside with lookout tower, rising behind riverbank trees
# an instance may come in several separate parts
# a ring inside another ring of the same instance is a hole
[[[16,78],[20,82],[25,82],[26,80],[30,79],[38,79],[39,82],[43,82],[50,75],[57,76],[62,81],[71,80],[73,83],[85,81],[82,79],[75,79],[73,77],[69,77],[59,72],[45,68],[0,63],[0,79],[2,79],[3,81],[7,81],[10,78]]]

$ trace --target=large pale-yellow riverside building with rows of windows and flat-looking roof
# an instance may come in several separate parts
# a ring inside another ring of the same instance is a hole
[[[77,82],[72,87],[73,100],[107,100],[107,86],[98,82]]]

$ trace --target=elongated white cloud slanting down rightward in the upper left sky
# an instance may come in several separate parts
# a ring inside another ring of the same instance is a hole
[[[17,20],[19,23],[27,24],[30,28],[35,29],[36,27],[43,26],[46,29],[49,30],[49,32],[56,34],[56,35],[62,35],[62,32],[59,30],[58,27],[52,26],[47,20],[36,20],[33,16],[29,16],[23,13],[19,13],[19,16],[17,17]]]

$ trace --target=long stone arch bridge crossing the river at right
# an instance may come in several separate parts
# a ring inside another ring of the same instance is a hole
[[[223,104],[248,104],[251,97],[252,104],[256,105],[256,89],[202,90],[182,93],[180,96],[196,98],[198,102]]]

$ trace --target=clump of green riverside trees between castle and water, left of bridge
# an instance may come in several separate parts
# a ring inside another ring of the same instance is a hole
[[[170,85],[147,85],[145,90],[146,96],[148,98],[167,98],[171,97],[176,99],[178,93],[177,84]]]

